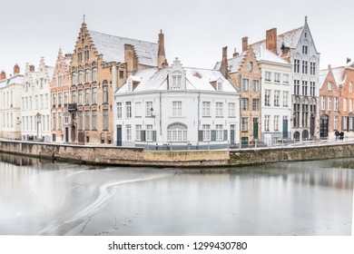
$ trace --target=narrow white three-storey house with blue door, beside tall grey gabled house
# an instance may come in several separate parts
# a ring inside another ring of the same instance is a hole
[[[263,45],[253,47],[261,68],[261,139],[270,145],[290,139],[291,64]]]

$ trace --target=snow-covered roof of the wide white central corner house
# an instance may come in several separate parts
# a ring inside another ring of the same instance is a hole
[[[134,77],[139,77],[141,79],[141,82],[134,89],[133,93],[167,90],[169,70],[170,67],[163,68],[160,70],[157,68],[152,68],[135,73]],[[221,79],[223,81],[222,92],[238,93],[234,86],[230,83],[230,81],[225,79],[221,72],[218,70],[189,67],[184,67],[183,70],[185,71],[187,91],[215,91],[214,87],[211,85],[211,82]],[[115,94],[118,95],[122,93],[128,93],[127,83],[124,83],[123,86]]]

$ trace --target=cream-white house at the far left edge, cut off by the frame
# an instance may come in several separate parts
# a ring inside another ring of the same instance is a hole
[[[21,91],[24,75],[17,64],[14,75],[0,77],[0,138],[21,139]]]

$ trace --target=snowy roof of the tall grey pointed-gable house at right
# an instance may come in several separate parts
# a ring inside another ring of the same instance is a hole
[[[284,34],[279,34],[277,36],[277,52],[278,54],[281,54],[281,45],[284,44],[286,47],[290,48],[296,48],[296,45],[299,42],[300,35],[302,33],[303,26],[293,29],[289,32],[286,32]],[[251,44],[252,47],[258,47],[258,46],[266,46],[266,40],[262,40],[260,42]]]

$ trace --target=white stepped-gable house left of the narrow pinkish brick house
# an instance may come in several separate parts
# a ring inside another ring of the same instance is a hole
[[[26,64],[22,93],[22,139],[51,141],[51,82],[54,67],[44,64],[44,57],[34,72],[34,65]]]

